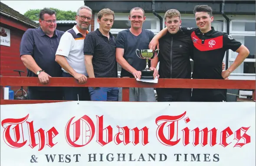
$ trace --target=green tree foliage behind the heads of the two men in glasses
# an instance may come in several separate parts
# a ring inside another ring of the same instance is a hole
[[[56,12],[57,20],[75,20],[76,12],[72,12],[71,10],[64,11],[64,10],[59,10],[56,8],[50,8],[50,9],[54,10]],[[26,11],[24,16],[26,16],[32,20],[38,20],[39,13],[40,13],[40,9],[30,9],[30,10]]]

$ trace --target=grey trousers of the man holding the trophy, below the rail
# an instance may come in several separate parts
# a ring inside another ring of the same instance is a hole
[[[154,88],[130,88],[131,102],[155,102]],[[119,88],[118,101],[122,101],[122,88]]]

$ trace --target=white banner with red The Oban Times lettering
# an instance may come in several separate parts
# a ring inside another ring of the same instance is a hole
[[[1,105],[1,166],[255,166],[255,102]]]

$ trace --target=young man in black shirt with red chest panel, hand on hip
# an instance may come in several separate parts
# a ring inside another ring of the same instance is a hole
[[[192,77],[194,79],[226,79],[230,76],[230,73],[243,63],[249,55],[249,50],[239,41],[232,39],[228,34],[214,30],[211,26],[213,16],[210,6],[195,6],[194,14],[198,28],[181,28],[186,34],[191,36],[194,43],[194,70]],[[158,44],[158,39],[166,32],[166,30],[162,31],[152,39],[150,47]],[[222,71],[222,61],[228,49],[236,51],[238,55],[234,63],[227,70]],[[226,89],[193,89],[192,101],[226,101]]]

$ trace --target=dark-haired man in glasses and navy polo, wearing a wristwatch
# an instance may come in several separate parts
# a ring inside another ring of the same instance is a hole
[[[56,29],[56,13],[43,9],[39,13],[39,28],[28,29],[20,42],[20,57],[27,67],[27,77],[38,77],[46,84],[50,77],[61,77],[61,67],[55,61],[55,53],[63,31]],[[62,100],[61,87],[28,87],[30,100]]]

